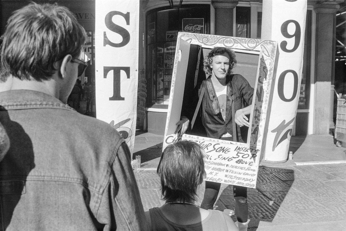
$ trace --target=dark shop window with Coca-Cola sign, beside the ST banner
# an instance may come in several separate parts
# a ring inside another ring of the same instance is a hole
[[[210,6],[159,8],[146,15],[147,106],[168,104],[179,31],[209,34]]]

